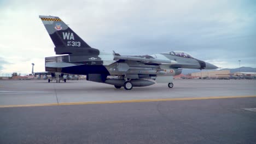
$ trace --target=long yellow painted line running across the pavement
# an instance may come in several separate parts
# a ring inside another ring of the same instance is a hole
[[[55,106],[55,105],[86,105],[86,104],[114,104],[114,103],[139,103],[151,101],[175,101],[175,100],[202,100],[202,99],[228,99],[228,98],[255,98],[251,96],[224,96],[224,97],[198,97],[198,98],[170,98],[170,99],[138,99],[138,100],[115,100],[115,101],[91,101],[79,103],[52,103],[52,104],[28,104],[28,105],[0,105],[3,107],[29,107],[29,106]]]

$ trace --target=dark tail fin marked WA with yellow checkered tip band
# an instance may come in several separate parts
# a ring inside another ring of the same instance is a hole
[[[57,16],[39,16],[55,45],[57,55],[97,55],[99,51],[91,48],[65,22]]]

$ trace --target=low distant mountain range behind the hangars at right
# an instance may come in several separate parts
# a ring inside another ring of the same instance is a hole
[[[200,70],[200,69],[183,69],[182,74],[187,75],[191,73],[197,73],[200,71],[216,71],[217,69],[213,70]],[[239,68],[234,68],[234,69],[220,69],[220,70],[230,70],[230,73],[236,73],[239,72]],[[251,68],[251,67],[241,67],[241,72],[255,72],[256,73],[256,68]]]

